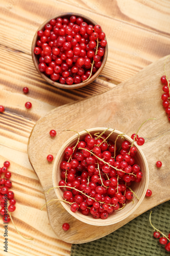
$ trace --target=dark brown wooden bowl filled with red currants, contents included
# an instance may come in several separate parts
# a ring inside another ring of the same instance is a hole
[[[93,82],[107,60],[105,33],[92,19],[62,13],[46,20],[32,42],[32,59],[48,83],[75,89]]]

